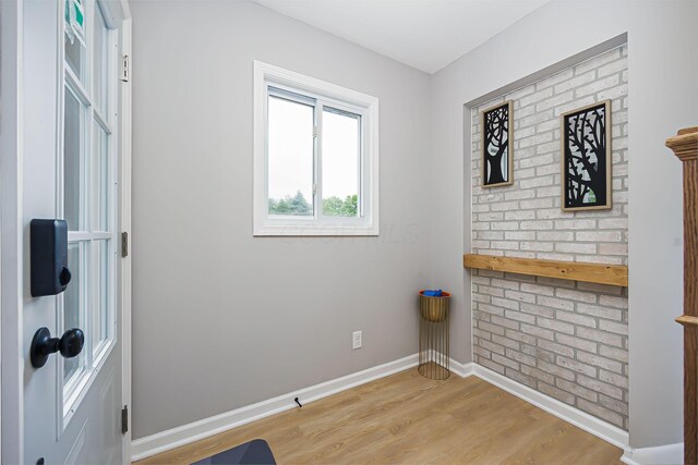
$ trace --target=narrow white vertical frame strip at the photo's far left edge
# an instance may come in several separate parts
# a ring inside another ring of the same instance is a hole
[[[23,0],[0,2],[0,341],[2,463],[23,463],[22,51]]]

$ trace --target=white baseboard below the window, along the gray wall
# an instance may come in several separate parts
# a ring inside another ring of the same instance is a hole
[[[131,443],[131,460],[139,461],[159,454],[180,445],[189,444],[222,431],[255,421],[274,414],[294,408],[294,397],[299,397],[303,404],[336,394],[347,389],[384,378],[414,367],[418,364],[418,355],[409,355],[395,362],[378,365],[351,375],[344,376],[309,388],[299,389],[256,404],[246,405],[220,415],[204,418],[198,421],[182,425],[145,438],[136,439]]]

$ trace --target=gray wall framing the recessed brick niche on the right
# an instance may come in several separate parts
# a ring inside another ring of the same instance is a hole
[[[470,168],[464,163],[469,159],[464,147],[471,144],[470,110],[464,117],[464,105],[510,91],[520,79],[627,33],[633,102],[628,112],[629,433],[635,448],[682,441],[682,331],[673,321],[682,311],[681,167],[664,139],[696,124],[695,17],[698,3],[689,1],[554,1],[432,78],[432,179],[438,179],[433,192],[434,204],[440,205],[431,210],[435,232],[430,250],[437,264],[433,280],[453,289],[464,303],[469,302],[471,285],[460,264],[460,254],[470,250],[471,243],[470,198],[464,200],[460,191],[471,189]],[[470,362],[470,305],[459,305],[457,313],[467,339],[459,360]]]

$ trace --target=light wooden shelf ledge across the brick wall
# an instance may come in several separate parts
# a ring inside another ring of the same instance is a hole
[[[480,270],[504,271],[507,273],[593,282],[624,287],[628,285],[628,267],[625,265],[495,257],[478,254],[464,255],[462,264],[466,268]]]

